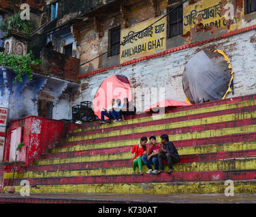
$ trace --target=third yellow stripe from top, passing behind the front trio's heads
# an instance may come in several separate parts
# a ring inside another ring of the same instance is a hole
[[[207,130],[207,131],[192,132],[187,134],[169,135],[169,139],[170,141],[175,142],[177,140],[189,140],[194,138],[212,138],[215,136],[244,134],[244,133],[252,133],[255,131],[256,131],[256,125],[246,125],[242,127],[223,128],[219,130]],[[154,132],[152,134],[154,134]],[[160,141],[160,136],[157,136],[157,141]],[[138,144],[138,142],[140,142],[140,139],[101,142],[97,144],[95,143],[95,144],[76,145],[76,146],[65,146],[62,148],[51,149],[50,153],[84,151],[84,150],[90,150],[90,149],[105,149],[105,148],[113,148],[113,147],[119,147],[119,146],[129,146],[133,144]]]

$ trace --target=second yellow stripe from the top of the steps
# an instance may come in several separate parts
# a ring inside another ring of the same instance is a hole
[[[156,129],[157,130],[171,130],[171,129],[179,128],[179,127],[190,127],[190,126],[195,126],[195,125],[221,123],[221,122],[226,122],[226,121],[236,121],[236,120],[249,119],[249,118],[256,118],[256,111],[253,111],[251,113],[237,113],[237,114],[230,114],[230,115],[206,117],[206,118],[202,118],[202,119],[193,119],[193,120],[189,120],[189,121],[180,121],[180,122],[167,123],[167,124],[161,124],[161,125],[150,125],[150,126],[146,126],[146,127],[135,127],[132,129],[116,130],[116,131],[100,133],[100,134],[89,134],[89,135],[85,135],[85,136],[72,136],[71,138],[65,139],[65,142],[89,140],[89,139],[95,139],[95,138],[105,138],[105,137],[110,137],[110,136],[121,136],[121,135],[127,135],[127,134],[138,134],[138,133],[144,133],[144,132],[153,132]]]

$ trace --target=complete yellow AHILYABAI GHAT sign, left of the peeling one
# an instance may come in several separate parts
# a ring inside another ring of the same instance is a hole
[[[121,31],[121,63],[166,49],[166,18],[153,24],[157,20],[147,20]]]

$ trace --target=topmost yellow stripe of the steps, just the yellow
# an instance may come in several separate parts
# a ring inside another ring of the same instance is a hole
[[[229,103],[229,104],[222,104],[218,106],[210,106],[207,108],[201,108],[201,109],[191,109],[189,111],[180,111],[176,113],[168,113],[164,115],[153,115],[150,117],[141,117],[137,119],[131,119],[127,121],[121,121],[121,122],[115,122],[115,123],[106,123],[103,125],[97,125],[94,127],[86,127],[85,129],[77,129],[74,130],[74,132],[82,132],[86,130],[95,130],[95,129],[104,129],[108,127],[113,127],[113,126],[121,126],[121,125],[127,125],[127,124],[133,124],[133,123],[142,123],[142,122],[147,122],[147,121],[154,121],[157,119],[169,119],[173,117],[182,117],[182,116],[187,116],[187,115],[196,115],[200,113],[209,113],[209,112],[214,112],[214,111],[223,111],[227,109],[235,109],[235,108],[241,108],[241,107],[246,107],[246,106],[253,106],[256,104],[256,100],[245,100],[242,102],[234,102],[234,103]]]

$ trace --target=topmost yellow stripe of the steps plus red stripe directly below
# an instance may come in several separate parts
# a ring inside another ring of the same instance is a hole
[[[161,125],[165,123],[175,123],[180,121],[189,121],[193,119],[202,119],[206,117],[214,117],[220,115],[228,115],[233,113],[245,113],[255,111],[256,100],[242,101],[234,104],[225,104],[210,108],[195,109],[182,113],[167,113],[164,115],[153,115],[143,119],[131,119],[127,121],[118,121],[105,123],[95,127],[80,128],[69,133],[69,136],[84,136],[86,134],[99,134],[112,132],[116,130],[128,130],[134,127],[143,127],[149,125]]]

